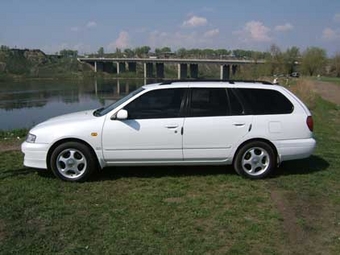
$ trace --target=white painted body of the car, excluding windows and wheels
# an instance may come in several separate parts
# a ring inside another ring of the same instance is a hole
[[[275,90],[293,105],[289,114],[117,119],[136,98],[152,90],[193,88],[255,88]],[[32,128],[34,141],[25,141],[24,165],[49,168],[56,145],[74,141],[88,146],[100,168],[119,165],[232,164],[236,152],[248,141],[265,141],[275,151],[276,164],[309,157],[315,147],[306,124],[307,107],[287,89],[249,82],[173,82],[151,84],[110,110],[94,116],[94,110],[49,119]],[[122,112],[122,111],[121,111]],[[184,131],[184,132],[183,132]]]

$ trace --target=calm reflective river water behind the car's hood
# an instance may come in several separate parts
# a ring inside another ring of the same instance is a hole
[[[30,128],[54,116],[99,108],[142,85],[144,80],[1,82],[0,130]]]

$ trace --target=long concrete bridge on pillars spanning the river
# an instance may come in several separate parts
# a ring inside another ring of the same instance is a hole
[[[264,60],[228,60],[228,59],[183,59],[183,58],[78,58],[79,62],[90,64],[95,72],[115,70],[117,74],[126,72],[137,72],[137,64],[143,65],[144,79],[164,78],[164,65],[177,64],[178,79],[198,78],[199,64],[220,65],[220,79],[228,80],[235,75],[240,65],[264,64]],[[154,66],[156,75],[154,76]],[[189,66],[189,68],[188,68]],[[115,68],[114,68],[115,67]],[[189,69],[189,70],[188,70]],[[188,71],[190,76],[188,75]]]

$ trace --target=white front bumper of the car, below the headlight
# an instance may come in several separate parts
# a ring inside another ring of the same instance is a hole
[[[46,158],[48,148],[48,144],[24,142],[21,145],[21,151],[25,154],[24,166],[47,169]]]

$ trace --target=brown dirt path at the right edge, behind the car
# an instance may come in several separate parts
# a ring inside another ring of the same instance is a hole
[[[314,81],[313,89],[323,99],[340,105],[340,85],[330,82]]]

